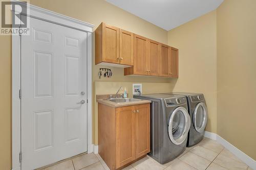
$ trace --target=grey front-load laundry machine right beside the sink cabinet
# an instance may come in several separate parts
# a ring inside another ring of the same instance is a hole
[[[186,148],[191,120],[187,100],[183,95],[144,94],[134,98],[151,103],[151,152],[159,163],[178,157]]]

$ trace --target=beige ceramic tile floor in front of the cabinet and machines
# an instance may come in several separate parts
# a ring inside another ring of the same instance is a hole
[[[106,170],[109,169],[99,154],[85,154],[47,167],[44,170]],[[242,170],[249,169],[245,163],[215,140],[204,138],[176,159],[160,164],[149,156],[124,168],[124,170]]]

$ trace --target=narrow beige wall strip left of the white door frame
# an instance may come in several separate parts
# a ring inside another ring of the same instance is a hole
[[[11,38],[0,36],[0,169],[11,169]]]

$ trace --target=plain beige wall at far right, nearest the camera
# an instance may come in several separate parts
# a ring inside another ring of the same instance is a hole
[[[256,160],[256,1],[217,10],[217,132]]]

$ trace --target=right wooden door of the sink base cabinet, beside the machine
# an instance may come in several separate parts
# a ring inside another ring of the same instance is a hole
[[[150,152],[150,104],[137,105],[135,113],[135,159]]]

